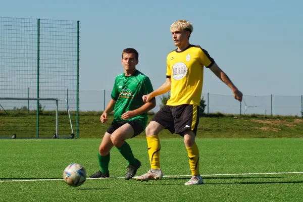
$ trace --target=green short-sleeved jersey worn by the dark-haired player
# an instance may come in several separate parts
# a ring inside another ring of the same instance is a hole
[[[137,121],[145,129],[147,113],[127,120],[122,119],[121,116],[127,111],[142,107],[145,104],[142,96],[153,92],[153,90],[149,78],[138,70],[131,76],[125,76],[124,73],[119,74],[115,79],[112,91],[112,99],[116,101],[114,121]]]

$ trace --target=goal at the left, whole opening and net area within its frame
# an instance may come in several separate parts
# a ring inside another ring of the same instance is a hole
[[[0,138],[74,138],[68,99],[0,97]]]

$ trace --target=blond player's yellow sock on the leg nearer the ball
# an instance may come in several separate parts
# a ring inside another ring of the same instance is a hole
[[[158,135],[146,137],[148,146],[148,156],[150,167],[152,169],[160,169],[160,139]]]

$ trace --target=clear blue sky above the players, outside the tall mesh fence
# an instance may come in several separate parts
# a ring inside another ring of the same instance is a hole
[[[2,17],[79,20],[80,90],[111,90],[123,72],[121,52],[139,52],[137,69],[154,88],[166,79],[175,49],[169,31],[193,24],[190,43],[207,49],[245,95],[303,94],[303,1],[4,1]],[[231,95],[205,70],[203,93]]]

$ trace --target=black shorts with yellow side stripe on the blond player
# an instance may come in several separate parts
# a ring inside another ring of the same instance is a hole
[[[190,129],[195,135],[199,124],[199,106],[196,105],[165,105],[156,113],[151,121],[156,121],[172,134],[183,136],[185,130]]]

